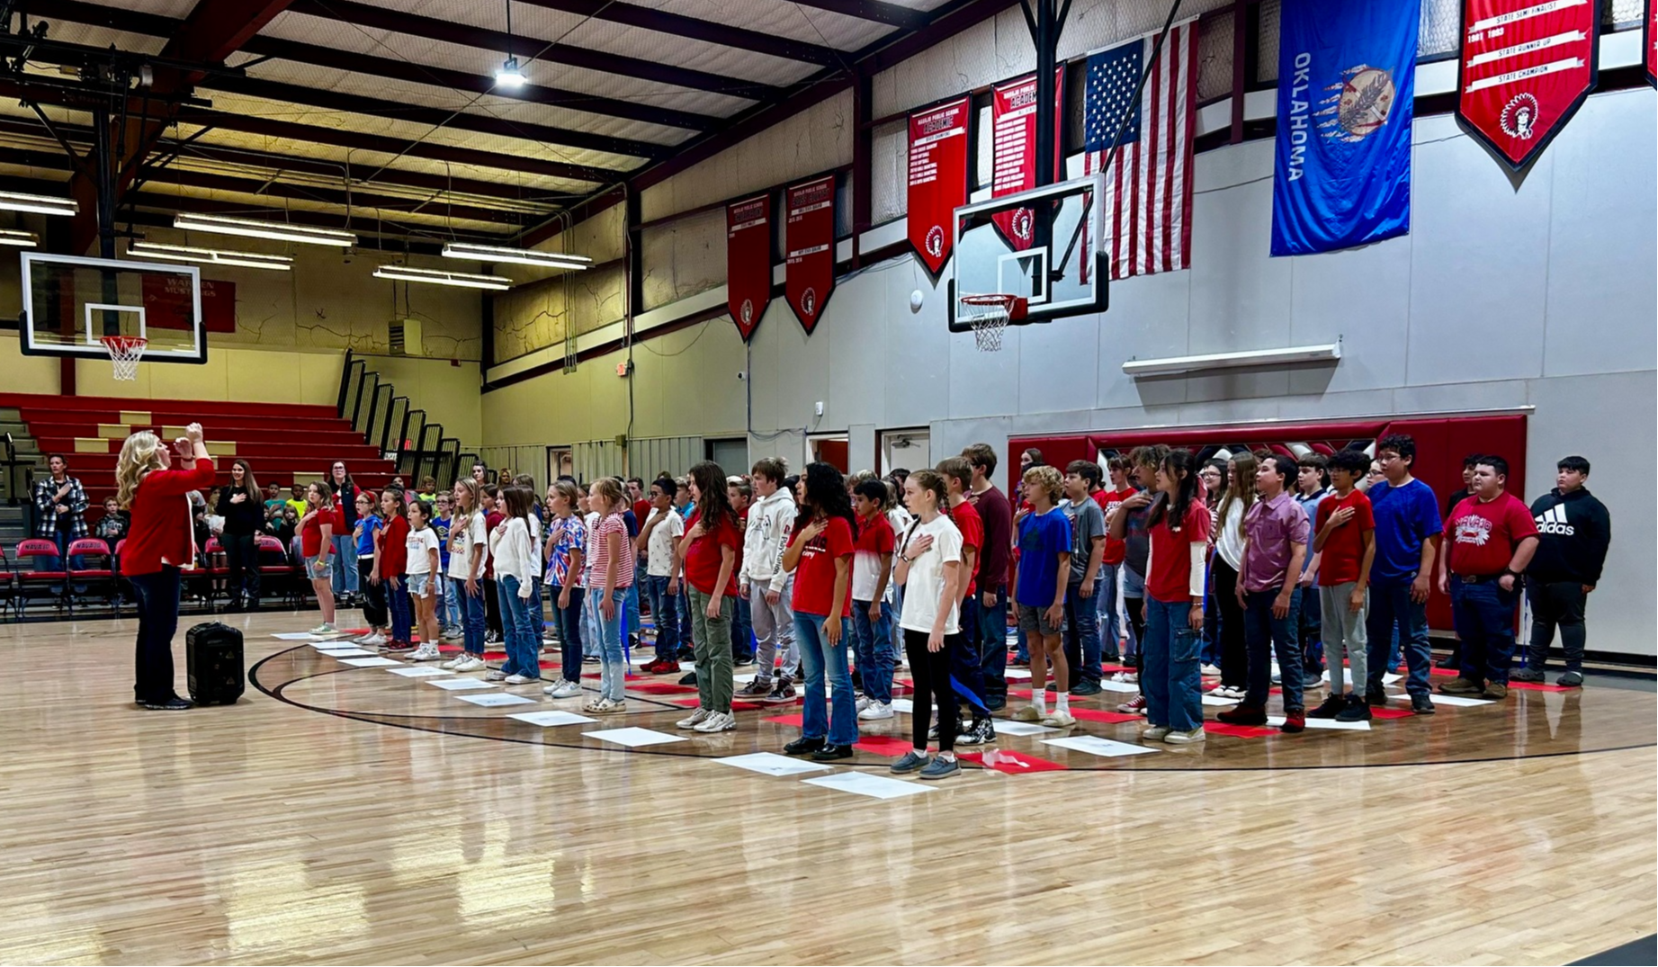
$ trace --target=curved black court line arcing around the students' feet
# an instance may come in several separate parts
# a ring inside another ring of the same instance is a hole
[[[355,667],[350,667],[350,665],[342,667],[342,668],[327,668],[327,670],[322,670],[322,672],[312,672],[312,673],[307,673],[307,675],[300,675],[297,678],[290,678],[287,682],[282,682],[282,683],[275,685],[274,688],[265,687],[265,683],[259,678],[259,670],[264,668],[267,662],[270,662],[274,658],[282,658],[285,655],[293,655],[295,652],[307,654],[307,652],[312,652],[312,649],[308,649],[305,645],[298,645],[298,647],[293,647],[293,649],[285,649],[282,652],[275,652],[275,654],[265,655],[264,658],[260,658],[249,670],[247,678],[254,685],[254,688],[259,688],[260,693],[269,695],[270,698],[275,698],[277,702],[282,702],[284,705],[290,705],[293,708],[303,708],[305,712],[318,712],[322,715],[333,715],[337,718],[350,718],[353,722],[366,722],[366,723],[371,723],[371,725],[385,725],[385,726],[391,726],[391,728],[406,728],[406,730],[411,730],[411,731],[429,731],[429,733],[436,733],[436,735],[453,735],[453,736],[459,736],[459,738],[478,738],[478,740],[484,740],[484,741],[507,741],[507,743],[514,743],[514,745],[542,745],[542,746],[554,746],[554,748],[570,748],[570,750],[577,750],[577,751],[604,751],[604,753],[625,753],[625,755],[658,755],[658,756],[686,758],[686,760],[695,760],[695,758],[711,760],[711,758],[726,758],[726,756],[731,756],[731,755],[746,755],[746,753],[738,753],[738,751],[698,753],[698,751],[690,751],[690,750],[685,750],[685,751],[670,751],[667,748],[655,750],[652,746],[635,746],[635,748],[620,746],[620,748],[612,748],[612,746],[607,746],[607,745],[605,746],[585,745],[582,741],[547,741],[547,735],[550,735],[550,730],[542,730],[542,736],[539,740],[532,740],[532,738],[512,738],[512,736],[507,736],[507,735],[476,735],[476,733],[463,731],[463,730],[458,730],[458,728],[444,728],[444,726],[438,726],[438,725],[419,725],[419,723],[421,722],[473,723],[473,722],[499,722],[499,718],[484,718],[484,717],[478,717],[478,715],[403,715],[403,713],[396,713],[396,712],[356,712],[356,710],[350,710],[350,708],[325,708],[322,705],[308,705],[308,703],[300,702],[297,698],[290,698],[287,695],[288,685],[297,685],[297,683],[307,682],[310,678],[320,678],[323,675],[338,675],[342,672],[360,672],[361,668],[355,668]],[[673,710],[673,712],[685,710],[685,707],[681,707],[681,705],[671,705],[671,703],[658,702],[658,700],[653,700],[653,698],[632,698],[630,697],[628,702],[642,702],[642,703],[657,705],[657,707],[660,707],[665,712],[667,710]],[[627,722],[627,718],[628,717],[625,717],[625,715],[618,717],[618,718],[613,718],[610,722],[615,722],[618,725],[612,725],[612,726],[605,726],[605,728],[617,728],[617,726],[623,725]],[[385,722],[385,720],[406,720],[406,722]],[[607,722],[607,720],[600,718],[600,720],[595,722],[595,725],[602,725],[604,722]],[[1414,718],[1413,720],[1406,720],[1406,722],[1414,722]],[[539,728],[539,726],[532,726],[532,725],[527,725],[527,723],[524,723],[524,725],[527,728]],[[1073,735],[1089,735],[1089,733],[1073,733]],[[1099,736],[1099,738],[1106,738],[1106,736]],[[1113,741],[1121,741],[1121,740],[1113,740]],[[1464,758],[1464,760],[1429,760],[1429,761],[1414,761],[1414,763],[1303,765],[1303,766],[1189,766],[1189,768],[1180,768],[1180,766],[1142,766],[1142,765],[1136,765],[1136,766],[1113,766],[1113,765],[1069,766],[1068,765],[1061,771],[1132,775],[1132,773],[1258,773],[1258,771],[1321,771],[1321,770],[1414,768],[1414,766],[1434,766],[1434,765],[1505,763],[1505,761],[1520,761],[1520,760],[1542,760],[1542,758],[1562,758],[1562,756],[1578,756],[1578,755],[1598,755],[1598,753],[1608,753],[1608,751],[1628,751],[1628,750],[1636,750],[1636,748],[1650,748],[1653,745],[1658,745],[1658,741],[1638,741],[1638,743],[1631,743],[1631,745],[1618,745],[1618,746],[1595,748],[1595,750],[1544,751],[1544,753],[1530,753],[1530,755],[1505,755],[1505,756]],[[759,751],[768,751],[768,750],[759,750]],[[978,750],[968,750],[968,751],[978,751]],[[957,755],[962,755],[962,751],[957,750]],[[1134,756],[1134,758],[1137,758],[1137,756]],[[842,766],[842,768],[864,768],[864,770],[885,770],[887,768],[887,763],[836,761],[834,765],[836,766]],[[970,761],[962,761],[962,766],[963,768],[970,768],[970,770],[985,768],[985,766],[982,766],[978,763],[970,763]]]

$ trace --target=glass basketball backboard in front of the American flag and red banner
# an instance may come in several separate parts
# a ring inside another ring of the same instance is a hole
[[[1013,325],[1104,312],[1108,265],[1099,252],[1103,176],[1093,174],[955,209],[950,332],[968,332],[967,295],[1018,295]]]

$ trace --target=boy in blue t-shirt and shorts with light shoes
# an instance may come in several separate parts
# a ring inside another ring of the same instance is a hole
[[[1020,629],[1031,645],[1031,703],[1013,713],[1016,722],[1076,725],[1071,695],[1064,690],[1064,592],[1071,577],[1071,519],[1059,509],[1064,481],[1051,466],[1025,471],[1025,496],[1031,513],[1020,519],[1020,562],[1013,574],[1013,600]],[[1040,645],[1040,647],[1038,647]],[[1053,667],[1054,710],[1048,713],[1046,677]]]

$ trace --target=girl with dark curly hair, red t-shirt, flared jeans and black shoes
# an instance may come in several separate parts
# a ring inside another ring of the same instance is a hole
[[[816,761],[852,758],[857,705],[846,665],[852,614],[852,552],[857,522],[844,474],[827,463],[809,463],[801,476],[804,496],[794,534],[783,551],[783,569],[794,574],[794,644],[806,672],[806,713],[801,736],[783,746],[788,755]],[[831,688],[824,695],[824,685]],[[832,702],[824,717],[824,700]]]

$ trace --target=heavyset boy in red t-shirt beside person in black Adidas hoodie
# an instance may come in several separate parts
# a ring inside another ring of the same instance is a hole
[[[1514,663],[1514,605],[1520,574],[1537,552],[1532,511],[1504,489],[1509,461],[1481,456],[1474,493],[1446,518],[1439,590],[1462,639],[1462,673],[1439,687],[1447,695],[1507,698]]]

